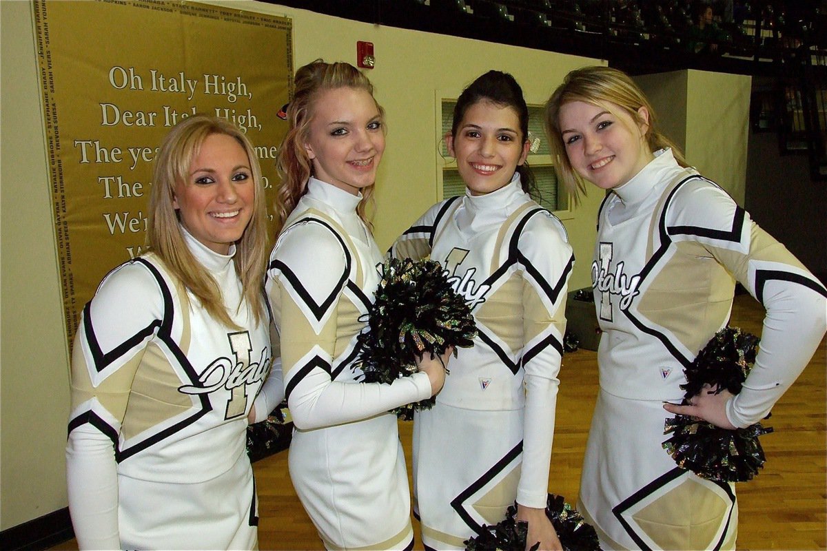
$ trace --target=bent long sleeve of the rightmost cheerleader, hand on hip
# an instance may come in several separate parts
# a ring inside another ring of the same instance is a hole
[[[827,330],[827,291],[719,188],[680,192],[670,233],[698,240],[767,310],[753,370],[727,405],[729,421],[745,427],[767,416],[812,358]]]

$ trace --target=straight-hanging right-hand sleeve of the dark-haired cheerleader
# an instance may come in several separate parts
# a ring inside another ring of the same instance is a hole
[[[517,502],[543,508],[554,439],[557,375],[566,332],[566,288],[574,256],[559,221],[542,212],[523,230],[519,251],[523,265],[526,398]]]

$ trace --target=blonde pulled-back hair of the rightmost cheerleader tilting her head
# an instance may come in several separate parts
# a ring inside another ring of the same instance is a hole
[[[580,202],[580,193],[586,193],[586,184],[571,168],[559,122],[560,108],[570,102],[590,103],[605,107],[609,112],[616,110],[607,104],[620,107],[623,112],[632,117],[635,124],[641,126],[645,123],[647,125],[646,142],[650,151],[672,148],[672,154],[675,155],[678,164],[683,167],[688,166],[681,150],[672,143],[672,140],[657,130],[657,119],[652,104],[628,74],[603,66],[575,69],[566,75],[563,83],[548,98],[543,116],[557,178],[562,180],[575,204]],[[640,116],[638,110],[641,107],[646,108],[649,115],[648,121]]]

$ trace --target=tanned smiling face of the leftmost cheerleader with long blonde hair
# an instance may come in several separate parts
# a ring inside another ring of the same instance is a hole
[[[241,239],[253,211],[256,188],[241,144],[226,134],[208,135],[175,184],[173,206],[191,235],[218,254]]]

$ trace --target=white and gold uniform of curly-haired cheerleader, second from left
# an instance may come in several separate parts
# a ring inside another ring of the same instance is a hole
[[[296,427],[290,477],[327,549],[406,549],[410,495],[394,407],[431,396],[428,375],[362,383],[356,336],[382,254],[360,196],[308,181],[270,255],[265,288],[280,331]]]

